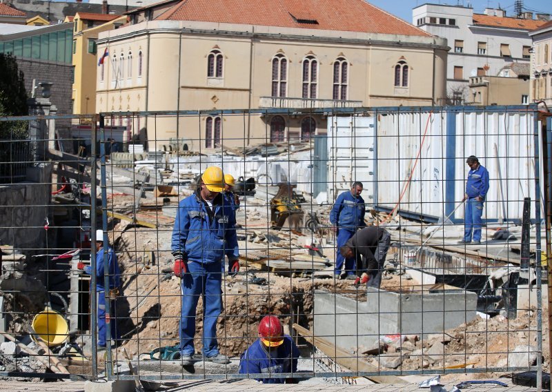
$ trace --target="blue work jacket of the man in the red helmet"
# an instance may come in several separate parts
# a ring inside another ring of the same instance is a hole
[[[257,339],[240,357],[239,374],[262,373],[273,378],[255,378],[255,380],[265,384],[284,384],[285,378],[274,378],[274,375],[295,373],[298,358],[299,349],[288,335],[284,336],[284,343],[270,348],[270,351],[260,339]]]

